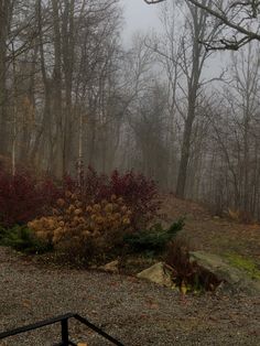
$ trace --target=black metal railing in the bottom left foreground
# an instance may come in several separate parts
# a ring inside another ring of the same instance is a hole
[[[14,336],[14,335],[18,335],[18,334],[21,334],[21,333],[26,333],[26,332],[30,332],[30,331],[34,331],[34,329],[37,329],[37,328],[42,328],[42,327],[45,327],[47,325],[52,325],[52,324],[61,322],[61,325],[62,325],[62,340],[61,340],[61,343],[58,343],[55,346],[68,346],[68,345],[77,346],[77,344],[73,343],[69,339],[69,335],[68,335],[68,320],[69,318],[75,318],[78,322],[85,324],[87,327],[89,327],[90,329],[93,329],[97,334],[101,335],[104,338],[106,338],[107,340],[109,340],[113,345],[123,346],[123,344],[120,343],[119,340],[117,340],[115,337],[112,337],[111,335],[107,334],[106,332],[104,332],[102,329],[100,329],[99,327],[97,327],[96,325],[90,323],[88,320],[82,317],[78,314],[74,314],[74,313],[59,315],[59,316],[56,316],[56,317],[53,317],[53,318],[40,321],[40,322],[33,323],[33,324],[29,324],[29,325],[25,325],[25,326],[15,328],[15,329],[11,329],[11,331],[7,331],[7,332],[3,332],[3,333],[0,333],[0,339],[9,337],[9,336]]]

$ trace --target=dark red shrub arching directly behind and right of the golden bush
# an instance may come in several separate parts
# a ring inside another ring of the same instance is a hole
[[[136,229],[145,227],[148,221],[156,216],[159,209],[156,184],[133,171],[119,173],[115,170],[108,176],[88,167],[80,174],[80,186],[73,185],[72,181],[69,185],[74,186],[74,192],[77,190],[82,194],[86,203],[99,203],[102,199],[110,199],[112,195],[122,197],[133,213],[131,221]]]

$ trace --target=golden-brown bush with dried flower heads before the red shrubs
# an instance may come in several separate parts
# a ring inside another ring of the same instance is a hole
[[[106,251],[122,241],[131,228],[131,210],[123,199],[112,195],[110,201],[87,206],[69,191],[58,198],[53,215],[29,223],[29,227],[42,240],[55,248],[85,248],[88,244],[98,251]]]

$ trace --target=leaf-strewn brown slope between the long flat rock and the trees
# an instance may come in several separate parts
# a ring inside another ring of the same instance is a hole
[[[162,212],[167,221],[185,216],[182,235],[192,249],[225,257],[236,253],[260,268],[260,224],[243,225],[214,217],[198,204],[172,195],[163,196]]]

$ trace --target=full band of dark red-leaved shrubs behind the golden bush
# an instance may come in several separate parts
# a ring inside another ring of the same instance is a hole
[[[17,172],[14,176],[0,171],[0,225],[25,224],[35,217],[51,215],[57,198],[69,191],[84,204],[122,197],[132,210],[131,226],[145,227],[159,209],[156,185],[153,181],[133,171],[110,176],[98,174],[93,167],[80,171],[80,179],[65,176],[54,183],[51,179],[36,179],[29,172]]]

